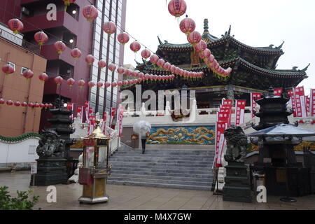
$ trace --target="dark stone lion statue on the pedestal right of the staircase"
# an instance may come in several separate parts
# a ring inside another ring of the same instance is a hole
[[[227,142],[225,161],[244,162],[246,159],[247,137],[241,127],[231,126],[224,132]]]

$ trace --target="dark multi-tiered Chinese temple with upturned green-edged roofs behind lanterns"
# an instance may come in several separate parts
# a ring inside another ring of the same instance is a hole
[[[231,27],[221,38],[209,33],[208,20],[204,20],[202,40],[207,42],[218,63],[227,69],[232,68],[230,76],[221,77],[209,69],[195,52],[190,43],[174,44],[158,38],[160,45],[156,55],[165,61],[179,66],[187,71],[204,72],[200,79],[188,79],[176,76],[168,82],[147,81],[142,83],[142,90],[195,90],[198,108],[216,108],[221,99],[246,99],[246,106],[250,104],[250,92],[266,92],[272,87],[295,87],[307,78],[307,68],[299,70],[276,69],[277,62],[284,54],[282,45],[267,47],[251,47],[231,35]],[[160,69],[150,61],[143,59],[137,62],[136,70],[154,75],[170,75],[171,71]],[[132,90],[132,87],[128,87]],[[123,90],[123,89],[122,89]],[[134,90],[134,89],[133,89]]]

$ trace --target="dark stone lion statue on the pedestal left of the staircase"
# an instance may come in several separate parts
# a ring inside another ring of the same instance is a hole
[[[66,141],[60,139],[55,130],[41,130],[36,153],[40,158],[62,158]]]

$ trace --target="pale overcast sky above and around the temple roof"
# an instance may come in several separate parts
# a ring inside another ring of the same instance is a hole
[[[186,35],[167,10],[169,0],[127,0],[126,31],[155,52],[158,38],[169,43],[187,43]],[[204,18],[209,20],[210,34],[221,37],[232,25],[232,35],[253,47],[283,45],[277,69],[304,69],[309,78],[302,81],[306,94],[315,87],[315,1],[314,0],[186,0],[187,15],[203,32]],[[130,39],[130,43],[134,41]],[[134,52],[125,45],[125,64],[133,64]],[[141,49],[144,47],[142,46]],[[141,52],[141,50],[140,50]],[[140,52],[137,61],[141,62]]]

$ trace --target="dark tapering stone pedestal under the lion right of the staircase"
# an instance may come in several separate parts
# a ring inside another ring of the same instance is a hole
[[[223,187],[223,201],[252,202],[251,184],[244,162],[228,162]]]

